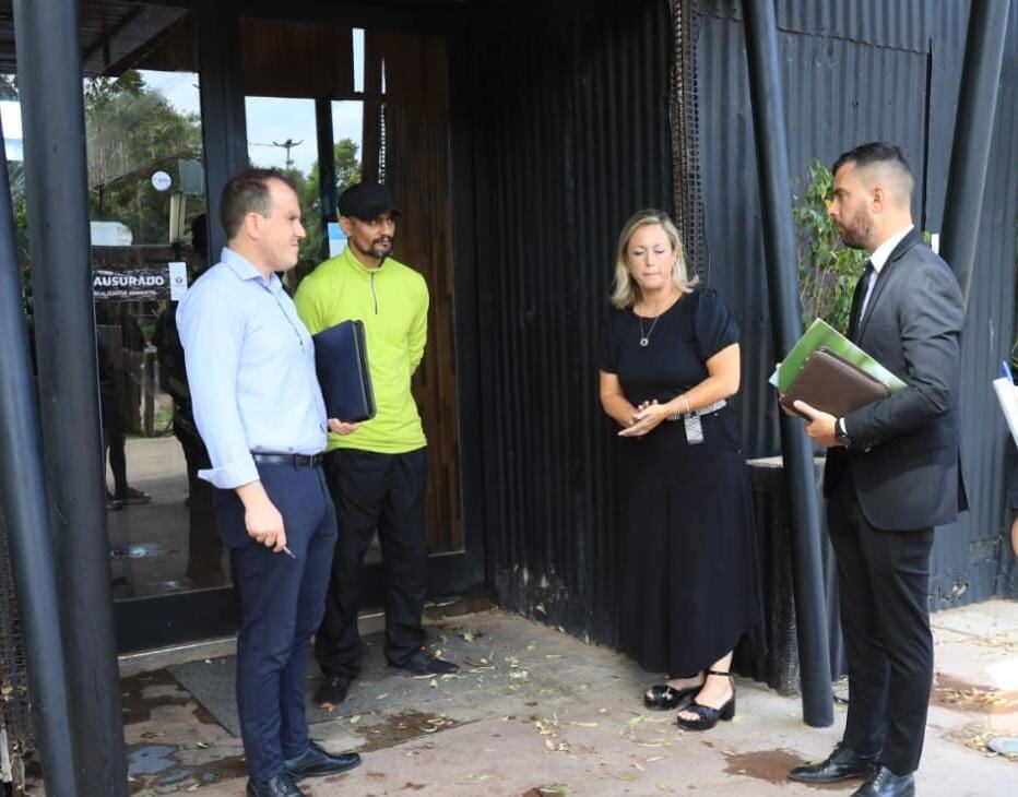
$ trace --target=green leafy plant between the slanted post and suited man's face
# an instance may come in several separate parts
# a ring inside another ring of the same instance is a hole
[[[867,255],[865,251],[844,246],[833,221],[827,215],[832,183],[830,169],[813,158],[805,193],[793,197],[798,296],[803,325],[821,318],[836,330],[845,331],[852,310],[852,294]]]

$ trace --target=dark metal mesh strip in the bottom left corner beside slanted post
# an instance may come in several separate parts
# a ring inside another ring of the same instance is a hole
[[[0,729],[7,740],[14,794],[24,786],[24,760],[35,749],[29,716],[28,678],[22,644],[14,573],[8,548],[7,522],[0,505]],[[4,759],[7,763],[8,759]]]

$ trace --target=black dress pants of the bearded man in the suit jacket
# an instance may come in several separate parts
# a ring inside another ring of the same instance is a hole
[[[844,742],[904,775],[919,768],[933,683],[926,593],[933,528],[866,522],[848,472],[827,504],[849,665]]]

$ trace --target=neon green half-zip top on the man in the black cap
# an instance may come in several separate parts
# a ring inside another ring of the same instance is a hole
[[[347,319],[364,322],[377,412],[350,435],[330,432],[325,450],[405,454],[424,448],[427,440],[410,392],[427,338],[424,277],[392,258],[368,269],[347,247],[301,281],[294,302],[312,335]]]

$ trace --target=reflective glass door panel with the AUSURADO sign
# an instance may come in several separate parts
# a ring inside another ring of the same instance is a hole
[[[111,41],[119,59],[86,70],[83,86],[97,423],[122,651],[236,623],[175,319],[210,264],[196,29],[192,14],[162,12],[144,17],[144,44]]]

